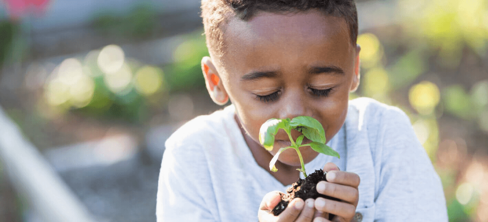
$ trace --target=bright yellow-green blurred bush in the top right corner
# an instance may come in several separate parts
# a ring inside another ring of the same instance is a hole
[[[398,14],[407,33],[426,41],[447,68],[459,65],[465,46],[486,56],[487,10],[486,0],[398,1]]]

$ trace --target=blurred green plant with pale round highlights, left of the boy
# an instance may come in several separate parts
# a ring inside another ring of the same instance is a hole
[[[58,110],[136,123],[146,118],[148,100],[166,94],[163,70],[125,58],[117,45],[91,51],[83,62],[62,61],[44,90],[47,103]]]

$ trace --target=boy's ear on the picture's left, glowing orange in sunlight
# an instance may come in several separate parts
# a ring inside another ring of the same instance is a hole
[[[229,101],[229,97],[212,59],[208,56],[202,58],[202,72],[210,98],[218,105],[225,105]]]

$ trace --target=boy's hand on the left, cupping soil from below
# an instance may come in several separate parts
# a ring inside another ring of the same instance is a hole
[[[260,222],[311,222],[314,218],[315,208],[313,199],[305,202],[300,198],[292,200],[286,209],[278,216],[271,210],[281,201],[282,192],[267,193],[259,206],[258,219]]]

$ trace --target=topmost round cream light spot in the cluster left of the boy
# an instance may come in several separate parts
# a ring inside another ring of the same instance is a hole
[[[98,55],[98,65],[105,74],[113,74],[122,68],[125,61],[125,54],[118,45],[107,45],[103,47]]]

